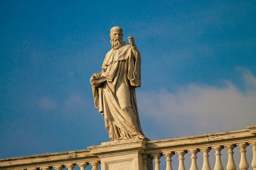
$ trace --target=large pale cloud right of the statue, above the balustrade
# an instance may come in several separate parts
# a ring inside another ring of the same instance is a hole
[[[156,125],[164,125],[166,133],[175,137],[255,125],[256,77],[248,70],[241,73],[245,91],[225,81],[224,87],[191,84],[180,87],[176,93],[140,92],[140,114],[154,119]]]

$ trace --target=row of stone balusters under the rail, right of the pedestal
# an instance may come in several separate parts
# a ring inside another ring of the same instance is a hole
[[[250,142],[251,146],[253,147],[253,160],[251,163],[251,166],[253,170],[256,170],[256,142]],[[240,144],[228,144],[228,145],[219,145],[219,146],[209,146],[204,148],[194,148],[194,149],[188,149],[188,150],[179,150],[175,151],[175,153],[179,156],[179,167],[178,170],[185,170],[184,166],[184,155],[189,151],[191,153],[191,167],[189,170],[199,170],[196,159],[198,158],[196,155],[201,150],[203,152],[203,166],[201,170],[211,170],[210,164],[209,164],[209,151],[211,148],[215,150],[215,166],[214,170],[224,170],[224,167],[221,163],[221,150],[226,147],[228,152],[228,161],[227,161],[227,170],[236,170],[236,164],[233,158],[233,149],[237,146],[240,147],[240,153],[241,153],[241,159],[239,163],[239,169],[240,170],[247,170],[249,169],[249,164],[246,159],[246,150],[245,148],[248,146],[248,143],[240,143]],[[172,170],[172,159],[171,157],[174,155],[174,151],[169,152],[163,152],[163,155],[166,156],[166,170]],[[155,158],[155,170],[160,170],[160,157],[161,153],[152,154],[152,156]]]

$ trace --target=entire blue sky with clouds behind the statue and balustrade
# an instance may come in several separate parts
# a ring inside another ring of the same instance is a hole
[[[113,26],[142,55],[149,139],[255,125],[255,16],[253,0],[2,0],[0,159],[109,141],[89,80]]]

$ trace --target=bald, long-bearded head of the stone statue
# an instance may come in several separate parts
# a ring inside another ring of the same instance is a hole
[[[110,30],[110,43],[112,44],[113,49],[118,49],[122,46],[123,43],[123,34],[122,34],[122,28],[119,26],[114,26]]]

